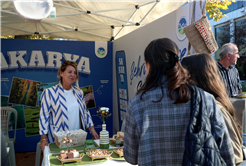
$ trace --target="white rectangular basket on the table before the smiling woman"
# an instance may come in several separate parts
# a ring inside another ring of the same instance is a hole
[[[65,132],[65,131],[54,132],[55,143],[59,148],[66,148],[67,146],[69,147],[81,146],[85,144],[87,132],[85,132],[84,130],[79,129],[79,130],[69,131],[69,140],[71,140],[71,142],[68,142],[66,145],[63,143],[63,141],[66,141],[66,139],[68,139],[66,138],[67,133],[68,132]]]

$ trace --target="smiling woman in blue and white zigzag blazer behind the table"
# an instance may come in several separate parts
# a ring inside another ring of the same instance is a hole
[[[59,71],[60,82],[41,95],[39,115],[40,148],[54,142],[53,132],[89,129],[93,139],[99,139],[90,112],[86,108],[83,91],[78,86],[76,62],[65,61]],[[76,81],[76,86],[73,83]]]

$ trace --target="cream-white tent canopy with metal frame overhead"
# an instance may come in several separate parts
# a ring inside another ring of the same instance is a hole
[[[26,3],[38,0],[13,1]],[[0,36],[41,34],[84,41],[111,41],[176,10],[188,1],[53,0],[56,18],[32,22],[16,13],[12,0],[1,0]]]

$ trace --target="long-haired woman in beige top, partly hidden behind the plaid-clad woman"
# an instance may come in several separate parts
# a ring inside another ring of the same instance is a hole
[[[216,99],[229,131],[235,153],[235,163],[240,165],[243,162],[242,128],[236,120],[235,109],[227,96],[215,60],[207,54],[195,54],[183,58],[182,65],[190,72],[190,83],[209,92]]]

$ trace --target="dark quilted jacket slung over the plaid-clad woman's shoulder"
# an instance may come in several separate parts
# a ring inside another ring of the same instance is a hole
[[[191,116],[185,136],[182,165],[224,166],[226,163],[211,132],[204,91],[197,87],[193,89],[195,96],[191,101]]]

